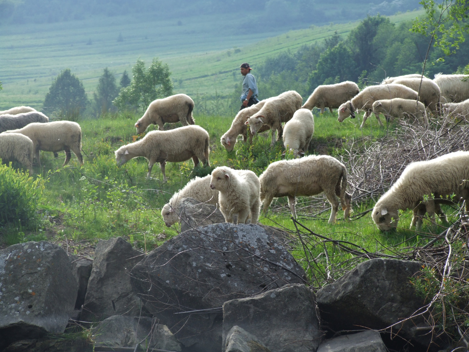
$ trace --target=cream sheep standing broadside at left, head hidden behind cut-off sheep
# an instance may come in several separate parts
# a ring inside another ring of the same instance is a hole
[[[32,122],[19,130],[9,130],[3,133],[21,133],[31,138],[34,145],[34,152],[38,166],[41,167],[39,151],[59,152],[65,151],[65,162],[62,166],[68,164],[72,154],[75,153],[83,165],[82,150],[82,130],[80,125],[71,121],[53,121],[48,123]]]

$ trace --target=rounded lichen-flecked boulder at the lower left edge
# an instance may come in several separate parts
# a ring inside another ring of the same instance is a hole
[[[60,246],[40,241],[1,250],[0,279],[0,350],[64,331],[78,286]]]

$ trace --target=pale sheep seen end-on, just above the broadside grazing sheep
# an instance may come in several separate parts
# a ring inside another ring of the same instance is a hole
[[[314,117],[309,109],[295,111],[290,121],[285,123],[283,130],[283,145],[285,154],[287,150],[293,150],[293,156],[297,158],[308,151],[311,137],[314,133]]]

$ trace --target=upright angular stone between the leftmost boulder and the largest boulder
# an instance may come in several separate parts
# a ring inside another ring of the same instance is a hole
[[[132,292],[130,269],[144,253],[122,237],[99,240],[83,304],[81,321],[103,321],[112,315],[137,316],[141,301]]]

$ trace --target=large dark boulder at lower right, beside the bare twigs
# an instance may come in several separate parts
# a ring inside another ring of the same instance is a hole
[[[397,323],[393,333],[428,346],[431,334],[422,316],[399,323],[424,306],[424,298],[416,295],[410,283],[421,268],[418,261],[395,259],[371,259],[357,265],[318,291],[324,325],[333,331],[379,330]]]

